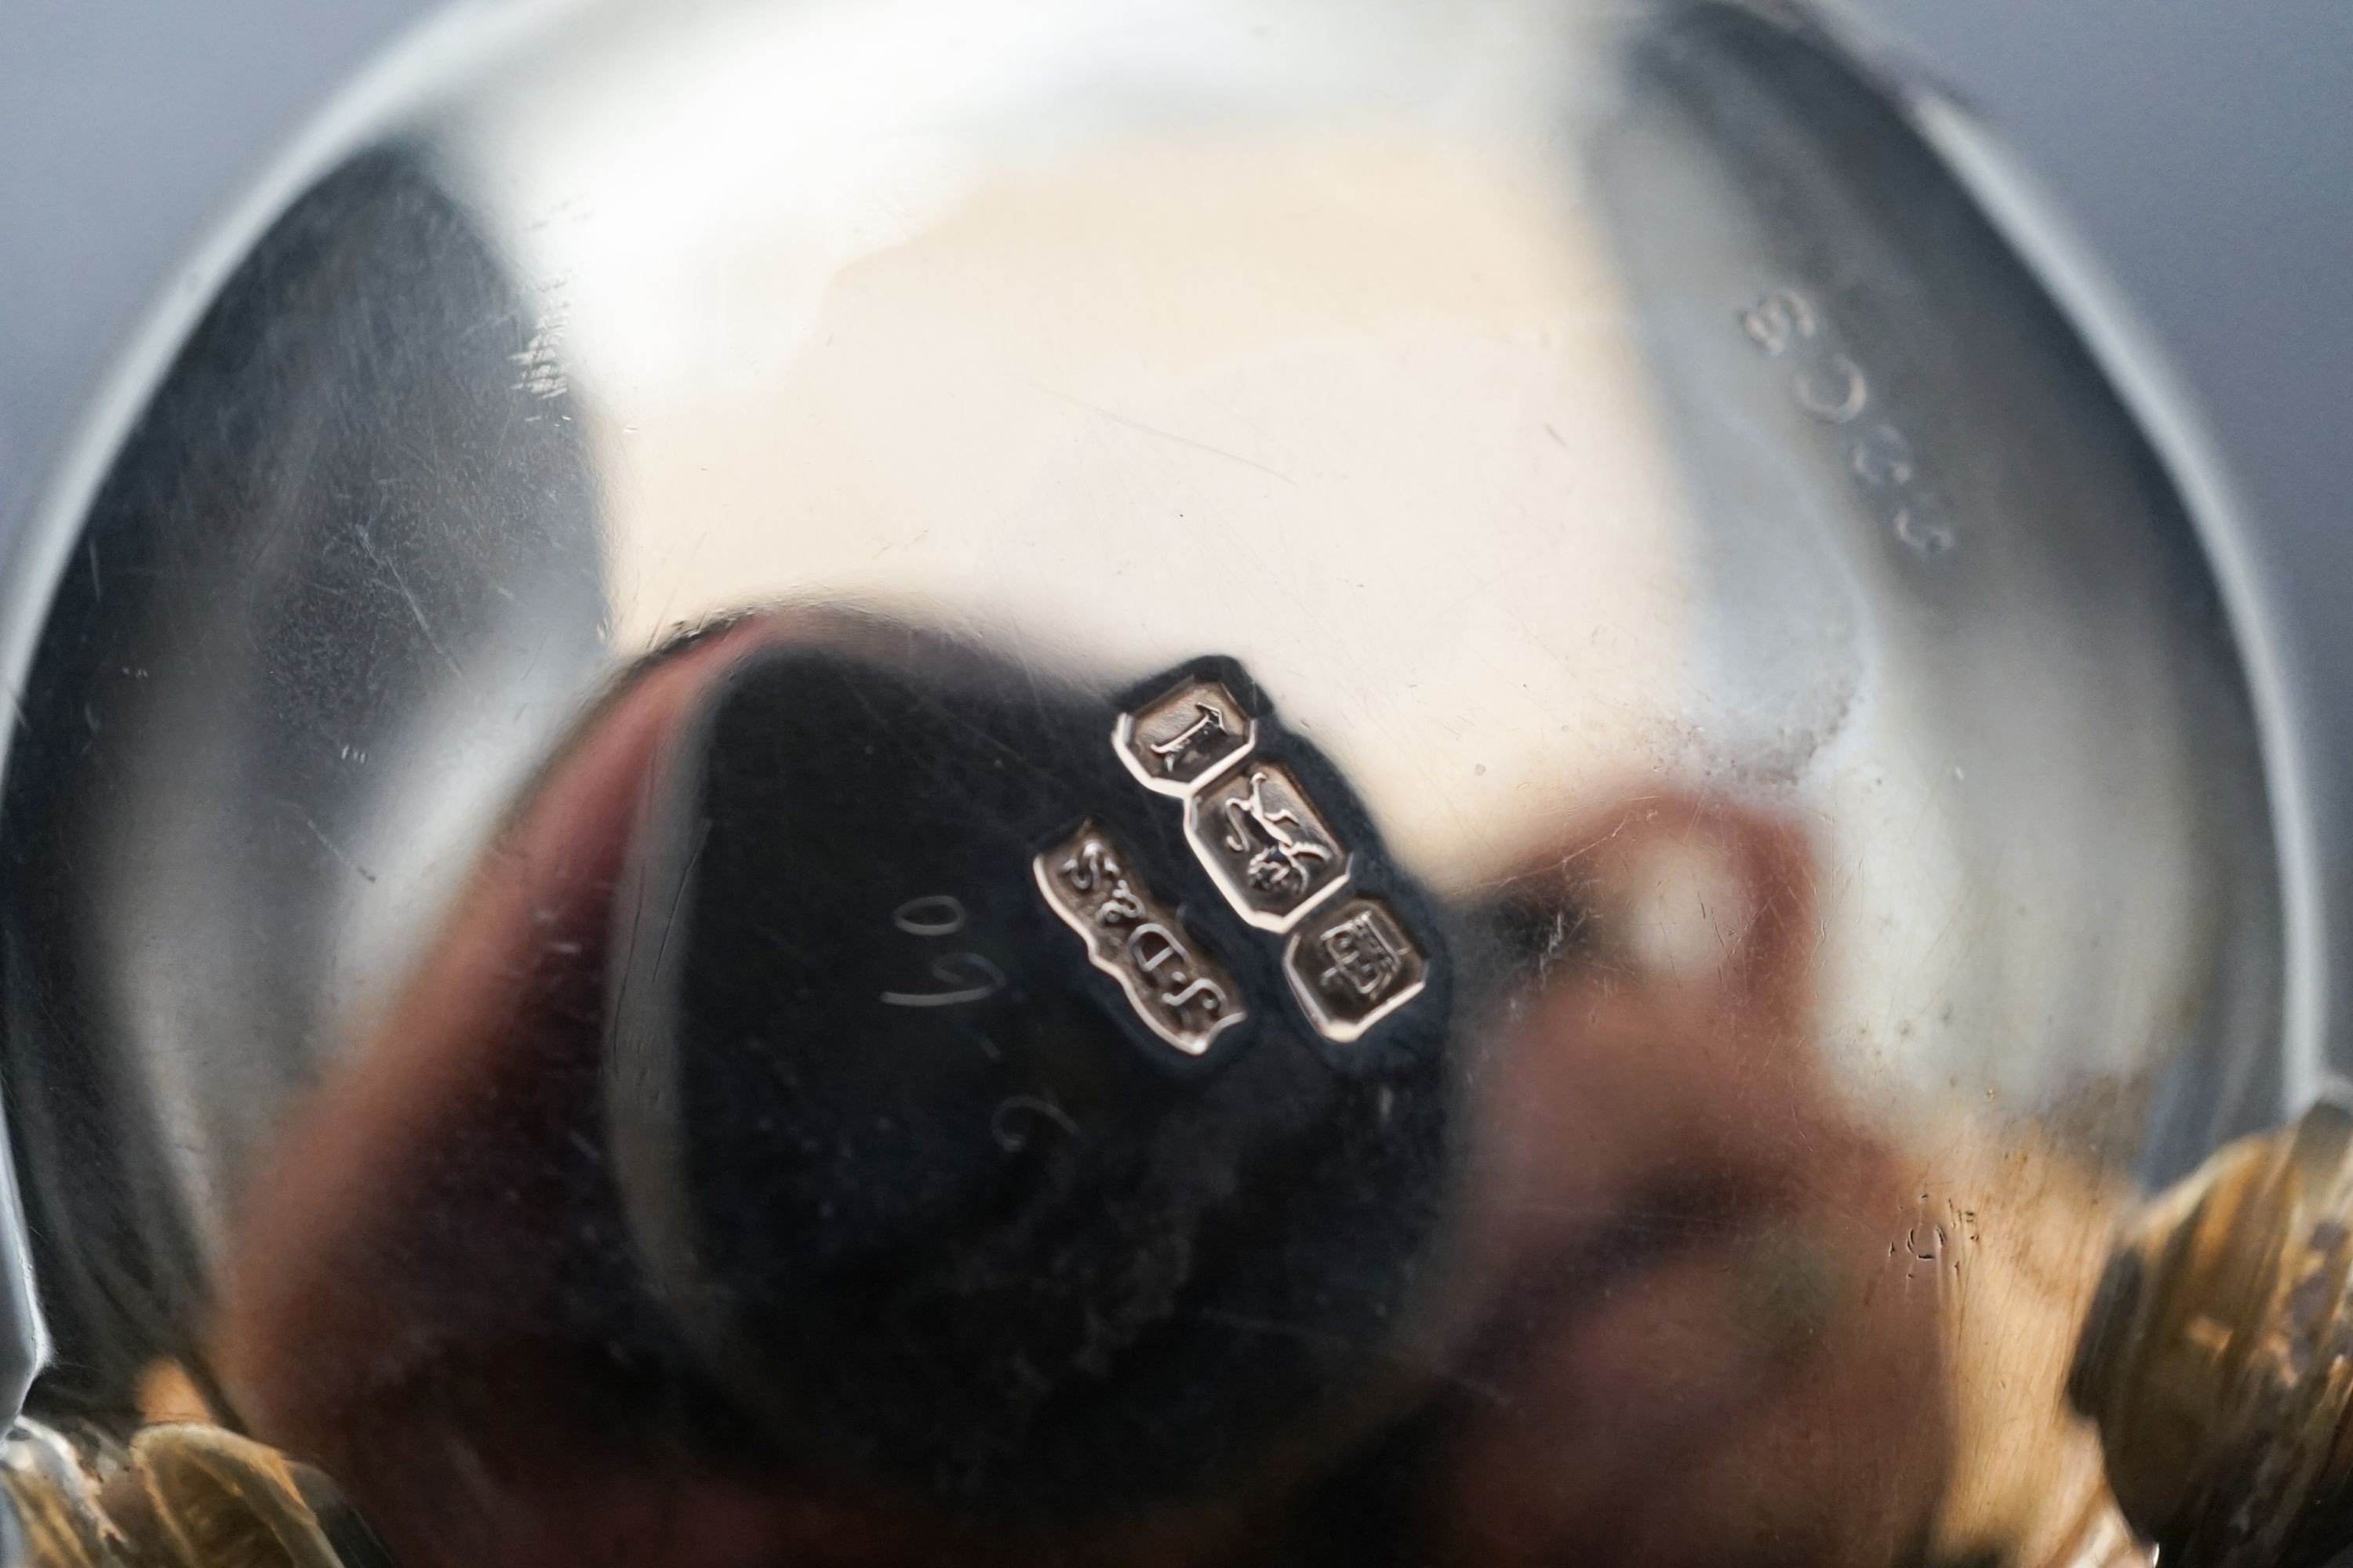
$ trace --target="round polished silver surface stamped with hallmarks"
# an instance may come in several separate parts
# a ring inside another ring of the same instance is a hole
[[[2104,1519],[2057,1389],[2120,1204],[2280,1119],[2313,1056],[2299,785],[2207,520],[1831,40],[1577,0],[459,16],[278,190],[7,578],[38,599],[0,799],[38,1408],[120,1415],[174,1368],[414,1563],[576,1561],[616,1519],[675,1528],[668,1561],[941,1561],[1005,1544],[988,1486],[1064,1497],[995,1436],[795,1469],[831,1394],[713,1307],[751,1288],[680,1229],[718,1225],[706,1175],[633,1185],[699,1128],[598,1098],[645,1077],[614,1020],[668,1006],[628,987],[687,985],[725,919],[649,893],[715,875],[671,759],[807,656],[925,715],[871,719],[889,766],[788,759],[885,780],[807,830],[812,877],[965,823],[939,842],[1052,938],[946,877],[824,910],[911,954],[826,1013],[842,1053],[986,1006],[1068,1065],[1056,997],[1115,985],[1195,1077],[1129,1131],[1075,1067],[1005,1093],[1002,1159],[1311,1105],[1278,1051],[1362,1100],[1334,1147],[1426,1154],[1412,1204],[1332,1199],[1329,1246],[1433,1215],[1412,1267],[1301,1284],[1360,1319],[1214,1307],[1362,1363],[1318,1361],[1264,1443],[1096,1443],[1073,1561],[1240,1549],[1228,1514],[1384,1422],[1445,1434],[1384,1493],[1440,1561],[1760,1528],[2057,1561]],[[1118,790],[1031,837],[984,790],[1085,769]],[[1099,945],[1064,872],[1160,853],[1108,811],[1193,856],[1132,886],[1165,947]],[[887,1187],[875,1150],[911,1190],[962,1171],[892,1107],[809,1135],[842,1192]],[[1120,1387],[1139,1302],[1207,1267],[1139,1255],[1080,1382]],[[729,1394],[776,1427],[758,1465],[696,1425]],[[1024,1497],[1019,1540],[1064,1540]]]

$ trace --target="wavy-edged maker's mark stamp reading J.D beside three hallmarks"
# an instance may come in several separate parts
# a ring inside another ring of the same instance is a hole
[[[1186,1056],[1202,1056],[1249,1011],[1214,957],[1153,898],[1101,827],[1082,823],[1031,863],[1038,891],[1087,945],[1087,961],[1120,983],[1136,1018]]]

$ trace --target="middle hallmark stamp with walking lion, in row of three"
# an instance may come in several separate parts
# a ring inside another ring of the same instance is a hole
[[[1348,879],[1348,851],[1280,762],[1252,759],[1186,802],[1186,842],[1235,914],[1289,931]]]

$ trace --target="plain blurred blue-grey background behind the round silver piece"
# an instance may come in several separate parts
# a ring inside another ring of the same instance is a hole
[[[2353,0],[1857,5],[2040,176],[2217,435],[2308,698],[2353,933]],[[0,541],[193,240],[424,9],[0,0]],[[2353,952],[2329,957],[2341,976]]]

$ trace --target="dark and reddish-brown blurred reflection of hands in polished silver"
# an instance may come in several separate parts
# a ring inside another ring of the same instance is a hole
[[[1882,1563],[1927,1552],[1955,1460],[1941,1314],[1958,1241],[1920,1222],[1906,1159],[1861,1128],[1817,1060],[1817,867],[1802,830],[1734,799],[1607,804],[1492,900],[1447,912],[1471,950],[1506,961],[1494,976],[1457,976],[1459,1023],[1440,1048],[1395,1077],[1355,1081],[1362,1105],[1388,1103],[1386,1121],[1311,1140],[1254,1178],[1217,1175],[1231,1159],[1219,1138],[1273,1093],[1268,1072],[1320,1077],[1306,1037],[1257,1030],[1195,1070],[1158,1072],[1148,1037],[1104,1023],[1125,999],[1075,964],[1075,945],[1061,952],[1042,907],[1028,926],[969,933],[976,945],[1019,938],[993,964],[1019,1025],[1054,1037],[1059,1060],[1045,1070],[1061,1077],[1019,1088],[1054,1107],[1040,1112],[1059,1124],[1047,1135],[1094,1126],[1089,1074],[1144,1072],[1122,1093],[1165,1105],[1141,1133],[1127,1126],[1134,1112],[1115,1119],[1118,1145],[1151,1150],[1151,1180],[1176,1192],[1209,1180],[1249,1206],[1254,1222],[1221,1241],[1242,1248],[1242,1284],[1266,1291],[1287,1272],[1294,1286],[1280,1314],[1228,1309],[1212,1286],[1195,1295],[1198,1276],[1214,1284],[1214,1246],[1165,1255],[1169,1321],[1153,1326],[1158,1340],[1132,1326],[1071,1363],[1064,1375],[1087,1415],[1066,1436],[1052,1418],[1068,1406],[1019,1406],[1038,1427],[1000,1427],[1002,1375],[1054,1371],[1038,1356],[1056,1340],[1031,1335],[1024,1312],[1075,1295],[1108,1340],[1104,1314],[1134,1305],[1127,1258],[1167,1234],[1172,1204],[1165,1192],[1141,1211],[1122,1199],[1122,1180],[1144,1180],[1122,1178],[1122,1161],[1054,1178],[1071,1211],[1061,1225],[1073,1227],[1061,1241],[1021,1232],[1054,1222],[1052,1206],[1038,1211],[1045,1220],[1002,1211],[1005,1175],[988,1173],[974,1180],[995,1208],[918,1227],[904,1246],[920,1258],[852,1260],[847,1276],[800,1276],[798,1293],[758,1286],[762,1300],[727,1279],[701,1279],[699,1295],[664,1281],[664,1253],[725,1265],[699,1239],[647,1237],[649,1215],[678,1208],[633,1213],[626,1199],[631,1159],[614,1157],[609,1098],[661,1088],[631,1084],[607,1060],[616,1009],[642,1011],[621,976],[659,983],[647,945],[734,938],[720,929],[725,910],[696,905],[685,919],[675,889],[647,912],[638,860],[680,827],[689,856],[715,842],[751,856],[762,818],[715,823],[701,797],[678,813],[661,795],[694,776],[685,750],[746,743],[696,724],[739,698],[748,672],[809,682],[845,658],[896,665],[941,698],[925,717],[979,712],[991,677],[1002,689],[1009,672],[986,661],[951,670],[946,646],[812,611],[741,618],[647,661],[562,748],[405,1001],[301,1107],[256,1185],[219,1335],[224,1387],[254,1432],[315,1455],[407,1563],[581,1561],[616,1542],[675,1563]],[[814,663],[776,663],[779,651],[812,649]],[[774,722],[781,710],[762,712]],[[1033,724],[1045,712],[1028,708]],[[1108,724],[1071,733],[1075,750],[1042,752],[1054,762],[1031,790],[1045,797],[1033,837],[1068,809],[1073,780],[1120,780],[1078,755],[1092,738],[1111,764]],[[913,743],[904,729],[899,738]],[[838,757],[824,766],[859,776]],[[774,799],[769,837],[788,832],[791,816]],[[873,820],[892,811],[953,806],[927,792],[878,804]],[[1002,802],[991,811],[1002,823]],[[1026,884],[1026,856],[998,860],[984,882]],[[1647,903],[1694,879],[1713,889],[1711,926],[1661,919]],[[720,886],[744,893],[741,882]],[[847,919],[824,903],[835,893],[821,877],[779,886],[746,912],[744,931]],[[741,943],[734,952],[744,961]],[[904,1016],[875,1006],[871,976],[852,969],[824,992],[809,973],[779,957],[734,980],[784,990],[802,976],[798,1001],[781,1004],[781,1018],[816,1027],[802,1048],[913,1048]],[[1273,1001],[1254,978],[1254,994]],[[1059,999],[1080,992],[1092,1013]],[[1054,1025],[1059,1013],[1068,1023]],[[791,1039],[758,1044],[795,1051]],[[1433,1063],[1442,1072],[1426,1072]],[[1012,1095],[991,1084],[967,1095],[974,1147],[1014,1171],[1035,1145],[1000,1138],[993,1112]],[[892,1105],[965,1103],[941,1086],[925,1079]],[[739,1091],[760,1093],[758,1079],[739,1079]],[[1297,1084],[1282,1093],[1294,1117],[1313,1103]],[[1466,1119],[1431,1140],[1395,1110],[1412,1095],[1459,1100]],[[819,1105],[781,1098],[760,1126],[784,1119],[779,1140],[847,1161],[802,1175],[842,1182],[838,1201],[875,1197],[861,1159],[875,1180],[906,1157],[922,1161],[922,1124],[875,1140],[864,1124],[819,1121],[849,1117],[852,1103]],[[944,1159],[960,1159],[951,1121],[929,1135],[946,1140]],[[1391,1159],[1360,1164],[1367,1145]],[[713,1180],[762,1180],[760,1161],[720,1171]],[[1407,1187],[1365,1187],[1377,1171],[1400,1171]],[[1346,1199],[1369,1199],[1369,1213]],[[1445,1237],[1412,1222],[1417,1204],[1445,1211]],[[1127,1213],[1148,1218],[1141,1241],[1118,1234]],[[1367,1284],[1374,1220],[1407,1246],[1400,1279],[1414,1284],[1402,1295]],[[805,1215],[776,1208],[774,1225],[793,1234]],[[1087,1227],[1111,1232],[1111,1248],[1089,1246]],[[1329,1246],[1334,1232],[1346,1248]],[[1007,1293],[991,1269],[967,1267],[988,1246],[1071,1279]],[[864,1281],[842,1300],[871,1316],[809,1316],[812,1295],[852,1288],[826,1279]],[[972,1321],[908,1345],[929,1389],[894,1382],[894,1340],[861,1340],[859,1324],[913,1333],[929,1319],[906,1316],[906,1291],[953,1319],[960,1284]],[[699,1321],[713,1300],[732,1309],[734,1338]],[[1367,1302],[1374,1316],[1355,1316]],[[786,1312],[779,1331],[873,1366],[842,1394],[807,1363],[781,1378],[734,1375],[744,1314],[762,1309]],[[1125,1354],[1132,1345],[1144,1349]],[[1315,1368],[1306,1382],[1301,1368]],[[1285,1392],[1271,1422],[1247,1415],[1266,1382]],[[861,1389],[915,1403],[826,1403]],[[791,1408],[795,1399],[807,1408]],[[960,1439],[1002,1462],[974,1467]],[[1038,1469],[1064,1441],[1075,1443],[1071,1474],[1092,1455],[1099,1488]]]

